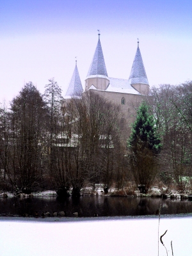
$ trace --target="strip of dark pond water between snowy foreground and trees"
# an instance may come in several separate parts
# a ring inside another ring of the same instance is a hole
[[[67,216],[80,212],[83,217],[92,217],[97,212],[99,216],[143,216],[156,214],[160,198],[127,198],[110,196],[82,196],[76,200],[68,198],[58,200],[55,196],[33,198],[0,198],[0,214],[34,216],[37,211],[66,211]],[[164,199],[161,214],[180,214],[192,212],[192,202],[188,200]]]

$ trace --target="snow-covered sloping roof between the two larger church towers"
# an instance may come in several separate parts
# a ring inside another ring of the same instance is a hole
[[[109,86],[106,89],[106,92],[120,92],[140,95],[138,91],[132,88],[128,79],[120,79],[113,77],[109,77]]]

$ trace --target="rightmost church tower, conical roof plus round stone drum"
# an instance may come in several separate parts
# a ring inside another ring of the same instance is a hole
[[[149,85],[148,79],[145,72],[145,67],[143,65],[143,60],[141,57],[139,42],[138,48],[132,63],[131,74],[129,76],[129,83],[131,86],[140,92],[142,95],[148,95]]]

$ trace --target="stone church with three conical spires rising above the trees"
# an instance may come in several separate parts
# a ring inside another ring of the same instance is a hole
[[[93,60],[85,78],[84,89],[81,84],[76,62],[76,67],[64,98],[70,100],[71,97],[79,95],[79,93],[86,93],[89,90],[120,105],[122,112],[122,139],[126,144],[127,138],[131,134],[131,124],[136,118],[136,108],[145,99],[149,91],[139,42],[129,79],[108,77],[99,34]]]

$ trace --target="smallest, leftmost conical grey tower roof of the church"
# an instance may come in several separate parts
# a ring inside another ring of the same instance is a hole
[[[74,73],[68,85],[67,93],[65,94],[65,96],[77,96],[81,93],[83,93],[83,86],[81,84],[81,79],[79,77],[79,71],[77,68],[77,61],[76,61],[76,67],[74,69]]]

